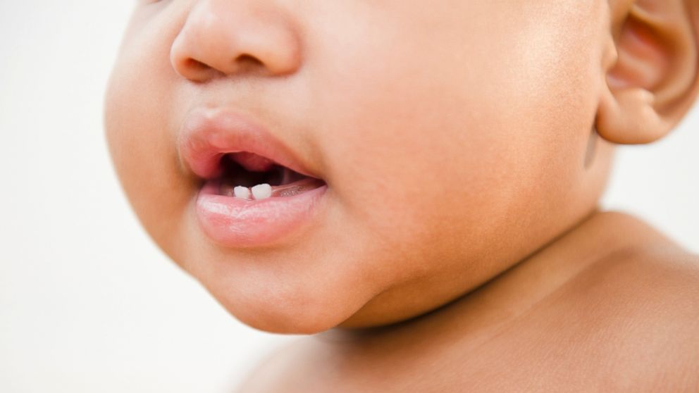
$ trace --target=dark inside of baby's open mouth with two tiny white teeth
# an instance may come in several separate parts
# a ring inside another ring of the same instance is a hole
[[[220,166],[221,175],[214,179],[218,195],[240,199],[295,196],[326,184],[321,179],[302,175],[268,158],[245,151],[224,154]]]

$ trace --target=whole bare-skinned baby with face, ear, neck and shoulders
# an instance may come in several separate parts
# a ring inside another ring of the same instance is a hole
[[[699,390],[699,258],[600,211],[699,0],[137,1],[106,133],[154,241],[307,334],[241,392]]]

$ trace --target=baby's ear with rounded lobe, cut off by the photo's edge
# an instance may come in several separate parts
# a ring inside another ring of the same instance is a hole
[[[699,89],[699,0],[609,1],[596,127],[609,142],[653,142],[679,123]]]

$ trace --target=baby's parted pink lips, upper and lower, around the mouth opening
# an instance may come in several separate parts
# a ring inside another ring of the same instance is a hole
[[[328,186],[259,123],[228,108],[199,108],[179,137],[183,166],[204,180],[195,204],[199,227],[215,243],[268,246],[308,228]],[[264,180],[272,189],[264,199],[232,192]]]

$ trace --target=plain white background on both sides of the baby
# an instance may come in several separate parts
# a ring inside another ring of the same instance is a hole
[[[224,392],[273,347],[137,224],[101,125],[132,1],[0,3],[0,391]],[[619,151],[604,206],[699,251],[699,111]]]

